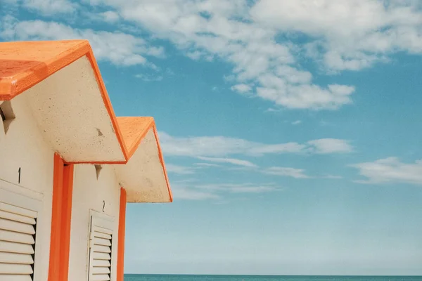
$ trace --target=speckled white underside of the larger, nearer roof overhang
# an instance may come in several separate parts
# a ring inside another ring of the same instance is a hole
[[[125,161],[86,56],[24,94],[46,140],[66,162]]]

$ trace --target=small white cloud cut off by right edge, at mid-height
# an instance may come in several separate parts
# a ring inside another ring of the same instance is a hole
[[[399,161],[397,157],[378,159],[351,165],[359,169],[359,174],[366,177],[361,183],[410,183],[422,185],[422,160],[412,164]]]

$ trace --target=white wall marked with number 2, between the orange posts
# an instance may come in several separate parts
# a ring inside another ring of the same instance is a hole
[[[105,202],[103,212],[103,201]],[[120,185],[110,165],[102,165],[97,179],[93,164],[77,164],[74,169],[72,221],[70,227],[69,281],[88,277],[90,210],[114,218],[111,280],[116,280]]]

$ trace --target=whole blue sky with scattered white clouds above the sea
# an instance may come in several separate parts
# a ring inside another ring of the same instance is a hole
[[[0,4],[155,117],[174,203],[129,204],[126,273],[422,275],[420,1]]]

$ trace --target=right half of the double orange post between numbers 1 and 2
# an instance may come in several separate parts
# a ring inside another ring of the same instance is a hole
[[[63,171],[63,197],[60,240],[60,281],[68,280],[70,252],[70,223],[72,221],[73,165],[67,165]]]

